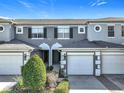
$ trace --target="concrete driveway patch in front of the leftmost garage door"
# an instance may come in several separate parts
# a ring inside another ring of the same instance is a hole
[[[16,84],[16,76],[0,76],[0,91],[8,90]]]

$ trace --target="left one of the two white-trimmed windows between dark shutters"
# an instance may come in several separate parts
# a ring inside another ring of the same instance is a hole
[[[44,38],[43,28],[32,28],[32,39]]]

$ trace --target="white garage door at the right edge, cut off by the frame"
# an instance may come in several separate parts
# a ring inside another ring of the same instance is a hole
[[[102,53],[102,74],[124,74],[124,53]]]

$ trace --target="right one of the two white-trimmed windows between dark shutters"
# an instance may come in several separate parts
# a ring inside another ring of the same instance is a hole
[[[59,39],[69,39],[69,27],[58,27],[58,38]]]

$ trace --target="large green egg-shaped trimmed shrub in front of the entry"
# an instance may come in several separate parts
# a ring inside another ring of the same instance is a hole
[[[43,90],[46,83],[46,67],[43,60],[34,55],[22,67],[22,77],[25,87],[33,92]]]

